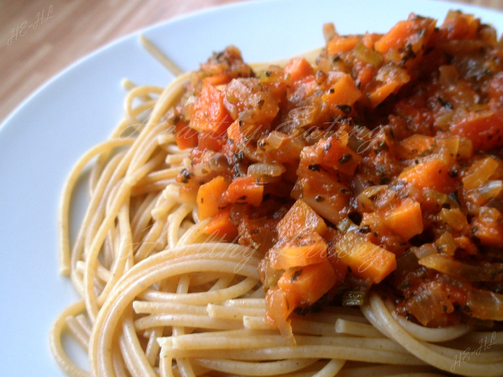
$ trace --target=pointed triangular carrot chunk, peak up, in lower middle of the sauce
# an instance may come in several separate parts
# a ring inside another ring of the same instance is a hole
[[[327,228],[323,219],[302,199],[298,199],[276,226],[278,238],[296,237],[315,231],[323,235]]]

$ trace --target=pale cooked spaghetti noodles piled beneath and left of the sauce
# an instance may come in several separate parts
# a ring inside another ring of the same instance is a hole
[[[177,107],[194,103],[194,92],[187,88],[200,77],[183,74],[164,89],[126,82],[125,120],[109,140],[77,161],[66,180],[59,219],[60,272],[70,275],[82,299],[61,312],[50,334],[52,352],[65,373],[503,375],[502,331],[476,330],[475,323],[438,328],[414,323],[400,315],[388,290],[364,292],[366,299],[357,306],[326,300],[317,306],[302,304],[300,309],[308,310],[289,313],[288,322],[279,323],[266,298],[269,283],[261,263],[267,258],[261,245],[234,242],[237,237],[225,240],[218,232],[208,235],[214,215],[202,219],[194,193],[181,195],[187,182],[180,172],[194,169],[194,154],[179,143]],[[215,78],[215,86],[221,78]],[[71,194],[92,161],[88,208],[70,247]],[[268,167],[276,174],[275,166]],[[369,198],[383,188],[375,190]],[[302,226],[307,225],[306,220]],[[268,288],[275,289],[274,284]],[[66,332],[88,351],[90,371],[66,355]]]

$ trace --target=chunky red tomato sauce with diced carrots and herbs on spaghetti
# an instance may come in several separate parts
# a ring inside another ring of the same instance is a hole
[[[194,146],[181,194],[262,253],[284,334],[371,289],[424,326],[503,320],[502,41],[454,11],[323,33],[314,63],[254,71],[228,47],[193,74],[171,114]]]

